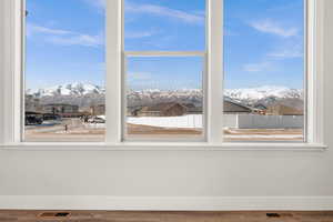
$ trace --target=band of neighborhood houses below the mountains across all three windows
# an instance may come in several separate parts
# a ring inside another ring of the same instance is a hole
[[[138,105],[128,108],[128,117],[180,117],[186,114],[202,114],[203,108],[193,103],[160,102],[150,105]],[[256,104],[253,107],[242,104],[225,98],[223,102],[224,114],[258,114],[258,115],[303,115],[302,110],[292,107],[275,104],[265,107]],[[105,115],[105,104],[80,108],[69,103],[41,104],[39,99],[31,95],[26,97],[26,119],[39,115],[40,119],[50,120],[59,118],[84,118]]]

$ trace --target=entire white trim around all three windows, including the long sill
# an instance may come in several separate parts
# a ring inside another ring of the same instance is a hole
[[[107,140],[102,143],[21,142],[22,0],[0,7],[0,149],[23,150],[323,150],[323,21],[324,0],[307,0],[307,141],[305,143],[224,143],[222,129],[223,64],[222,0],[208,1],[206,142],[122,142],[122,0],[107,0]],[[2,14],[2,16],[1,16]],[[213,29],[215,27],[215,29]],[[114,34],[117,33],[117,34]],[[135,53],[135,52],[131,52]],[[164,53],[164,52],[163,52]],[[196,53],[196,52],[193,52]],[[218,73],[218,74],[216,74]],[[221,74],[220,74],[221,73]],[[108,102],[112,101],[112,102]],[[49,149],[48,149],[49,148]]]

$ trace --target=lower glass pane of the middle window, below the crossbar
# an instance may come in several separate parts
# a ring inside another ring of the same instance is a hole
[[[127,58],[125,138],[202,138],[203,60]]]

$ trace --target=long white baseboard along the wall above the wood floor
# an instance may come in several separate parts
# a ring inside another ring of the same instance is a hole
[[[333,196],[104,196],[0,195],[0,209],[19,210],[333,210]]]

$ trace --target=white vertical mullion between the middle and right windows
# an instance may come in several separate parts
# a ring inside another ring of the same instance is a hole
[[[223,141],[223,1],[208,0],[208,141]]]

